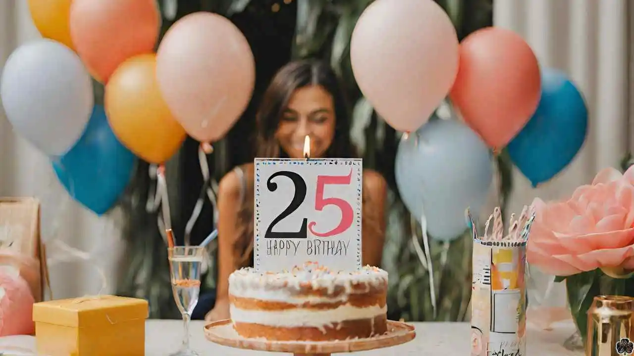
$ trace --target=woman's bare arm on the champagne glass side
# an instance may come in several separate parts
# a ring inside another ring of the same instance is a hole
[[[231,170],[221,179],[218,187],[218,279],[216,305],[205,319],[229,319],[229,275],[238,269],[234,244],[239,238],[238,210],[240,209],[242,181]]]

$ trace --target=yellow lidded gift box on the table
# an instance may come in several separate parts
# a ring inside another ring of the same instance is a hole
[[[51,300],[33,306],[37,354],[144,356],[148,302],[122,296]]]

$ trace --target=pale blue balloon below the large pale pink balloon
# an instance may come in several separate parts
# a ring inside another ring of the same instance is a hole
[[[477,214],[493,181],[493,155],[457,120],[434,120],[399,144],[396,184],[406,207],[430,237],[451,241],[465,231],[465,209]]]

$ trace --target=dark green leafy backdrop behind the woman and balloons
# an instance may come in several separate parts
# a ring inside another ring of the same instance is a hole
[[[471,239],[468,234],[452,243],[430,241],[437,311],[432,310],[429,270],[420,262],[415,240],[420,226],[401,203],[394,179],[394,158],[400,134],[389,127],[361,96],[350,63],[349,45],[354,25],[373,0],[159,0],[162,34],[184,15],[212,11],[230,18],[245,34],[256,58],[253,99],[223,141],[208,156],[215,182],[236,165],[254,158],[255,113],[259,98],[276,70],[290,60],[320,57],[330,61],[340,75],[351,106],[351,137],[363,156],[364,167],[381,172],[391,188],[384,252],[384,268],[390,275],[389,317],[406,321],[462,321],[469,317],[471,291]],[[493,23],[493,0],[437,0],[450,15],[458,37]],[[443,118],[443,110],[436,117]],[[447,112],[444,110],[444,112]],[[198,200],[202,175],[198,143],[188,139],[181,152],[167,164],[172,226],[183,242],[184,225]],[[497,157],[500,205],[512,189],[510,162]],[[169,288],[165,243],[157,227],[158,212],[152,205],[156,181],[147,163],[139,162],[136,177],[122,201],[126,211],[124,234],[127,258],[121,269],[117,294],[146,298],[150,317],[179,317]],[[214,227],[214,211],[205,202],[191,232],[199,243]],[[422,243],[419,243],[422,245]],[[204,288],[215,284],[215,246],[210,246]]]

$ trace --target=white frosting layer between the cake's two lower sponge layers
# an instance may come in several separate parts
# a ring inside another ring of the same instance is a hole
[[[379,307],[354,307],[346,304],[333,309],[294,308],[287,310],[248,310],[230,306],[233,322],[248,322],[274,327],[324,327],[358,319],[373,319],[387,313],[387,305]]]

